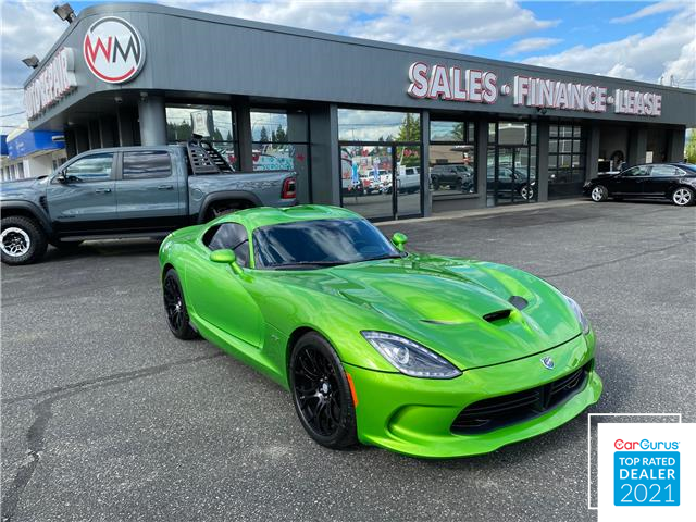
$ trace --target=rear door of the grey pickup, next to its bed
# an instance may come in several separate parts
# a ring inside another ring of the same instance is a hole
[[[125,150],[116,176],[116,213],[123,229],[171,231],[184,225],[186,201],[167,150]]]

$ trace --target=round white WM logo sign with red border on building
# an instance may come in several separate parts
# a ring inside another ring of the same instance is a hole
[[[116,16],[105,16],[91,24],[83,41],[83,54],[92,74],[109,84],[129,82],[145,63],[140,34]]]

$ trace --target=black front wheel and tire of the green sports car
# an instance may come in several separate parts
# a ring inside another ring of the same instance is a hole
[[[315,332],[295,344],[289,362],[295,411],[310,437],[331,449],[358,443],[356,409],[343,364]]]

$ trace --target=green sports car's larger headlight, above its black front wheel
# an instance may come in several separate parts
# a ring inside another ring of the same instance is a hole
[[[412,340],[384,332],[361,332],[399,372],[412,377],[452,378],[461,375],[449,361]]]

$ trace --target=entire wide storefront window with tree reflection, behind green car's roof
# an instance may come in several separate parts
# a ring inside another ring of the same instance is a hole
[[[422,215],[418,113],[338,110],[340,199],[369,219]]]

